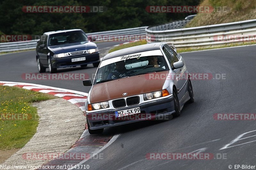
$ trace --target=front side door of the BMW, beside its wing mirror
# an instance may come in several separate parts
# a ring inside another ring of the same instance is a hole
[[[178,62],[180,58],[170,46],[165,44],[163,47],[163,51],[167,57],[168,62],[171,65],[171,71],[174,74],[174,76],[171,76],[171,77],[174,78],[173,82],[176,85],[179,100],[181,100],[186,92],[186,86],[185,86],[186,79],[184,78],[184,76],[182,76],[182,74],[184,73],[184,69],[183,69],[184,66],[178,69],[175,69],[173,67],[173,63]]]

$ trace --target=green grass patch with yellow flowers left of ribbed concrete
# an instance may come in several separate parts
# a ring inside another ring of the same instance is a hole
[[[0,85],[0,150],[22,148],[36,133],[38,125],[37,110],[32,103],[54,98],[49,94]],[[10,114],[22,115],[24,119],[10,120]]]

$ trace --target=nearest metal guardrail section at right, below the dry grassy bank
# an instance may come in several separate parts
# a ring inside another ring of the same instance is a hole
[[[256,19],[161,31],[148,27],[145,30],[148,43],[166,41],[173,43],[176,47],[212,46],[239,42],[239,35],[256,35]],[[218,36],[233,38],[219,40]]]

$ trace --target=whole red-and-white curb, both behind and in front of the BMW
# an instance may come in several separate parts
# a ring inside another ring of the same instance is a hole
[[[85,111],[85,102],[87,101],[88,93],[79,92],[75,90],[62,89],[57,87],[50,87],[46,85],[37,85],[31,83],[18,83],[0,81],[0,85],[15,86],[27,90],[43,92],[54,96],[61,97],[68,100],[72,104],[79,107],[83,112]],[[82,136],[66,153],[90,153],[90,157],[84,160],[58,160],[53,159],[45,165],[82,165],[87,160],[92,158],[92,155],[98,154],[112,144],[121,134],[105,134],[105,135],[90,135],[87,127],[85,128]],[[68,168],[67,168],[68,169]],[[73,168],[69,168],[71,170]]]

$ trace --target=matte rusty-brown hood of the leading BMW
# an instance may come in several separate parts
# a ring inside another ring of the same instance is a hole
[[[161,77],[158,75],[167,75],[168,73],[169,71],[161,71],[150,74],[154,74],[155,77]],[[162,76],[161,79],[150,79],[149,74],[143,74],[93,85],[90,94],[90,103],[122,98],[124,97],[123,93],[127,93],[125,97],[128,97],[162,90],[166,77],[163,78]]]

